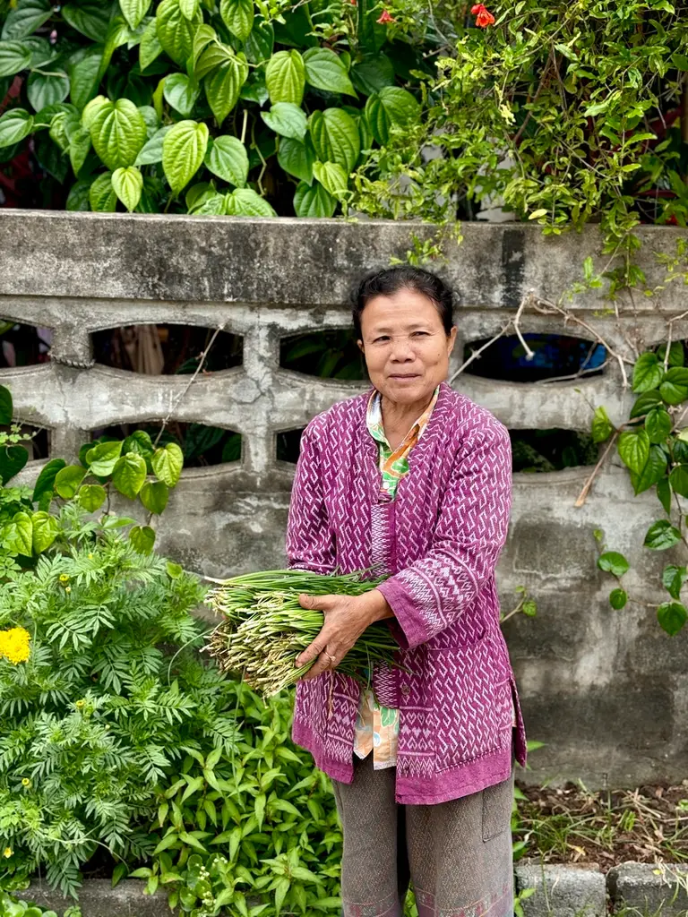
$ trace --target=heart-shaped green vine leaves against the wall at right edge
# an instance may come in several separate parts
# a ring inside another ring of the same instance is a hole
[[[650,551],[670,551],[671,563],[664,566],[661,588],[670,600],[656,606],[660,626],[676,635],[688,620],[688,609],[682,602],[682,588],[688,579],[688,369],[684,368],[684,345],[673,341],[669,354],[666,346],[640,354],[633,368],[633,391],[638,392],[627,421],[618,429],[604,407],[594,411],[592,432],[596,442],[617,436],[619,457],[627,467],[634,492],[654,488],[663,517],[656,519],[645,533],[643,546]],[[598,541],[602,533],[595,532]],[[614,609],[635,601],[620,585],[630,565],[617,551],[603,550],[597,559],[599,569],[610,573],[616,588],[609,594]]]

